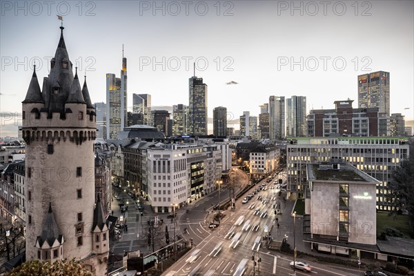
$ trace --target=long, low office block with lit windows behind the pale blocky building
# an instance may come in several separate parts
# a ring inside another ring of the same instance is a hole
[[[303,198],[309,193],[306,164],[343,160],[374,177],[377,209],[393,210],[389,184],[392,172],[408,159],[408,139],[404,137],[303,137],[288,139],[286,174],[288,194]]]

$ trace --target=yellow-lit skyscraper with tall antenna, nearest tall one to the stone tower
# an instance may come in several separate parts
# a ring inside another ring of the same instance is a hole
[[[121,78],[106,74],[106,137],[117,138],[118,132],[127,127],[127,75],[124,45],[122,46]]]

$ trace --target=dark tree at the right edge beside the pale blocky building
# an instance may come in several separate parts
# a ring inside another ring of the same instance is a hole
[[[410,143],[410,155],[403,159],[400,166],[393,170],[393,181],[388,184],[391,189],[391,197],[395,203],[395,210],[389,215],[408,215],[408,224],[411,237],[414,237],[414,150],[413,142]]]

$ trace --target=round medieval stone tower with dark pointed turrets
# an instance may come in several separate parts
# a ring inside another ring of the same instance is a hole
[[[108,227],[101,202],[95,199],[95,108],[86,79],[81,88],[77,70],[73,75],[60,28],[43,88],[34,67],[22,104],[26,259],[55,262],[75,258],[93,274],[106,275]]]

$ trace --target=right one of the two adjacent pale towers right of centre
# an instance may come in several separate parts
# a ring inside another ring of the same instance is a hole
[[[292,96],[286,99],[286,136],[306,136],[306,97]]]

